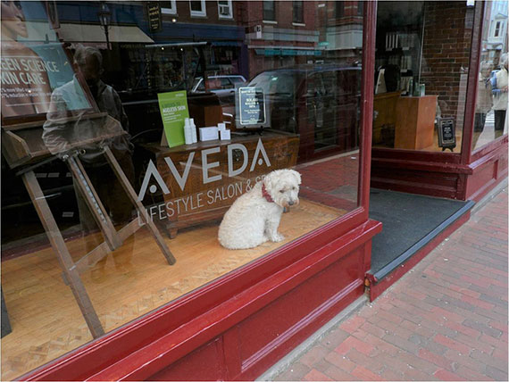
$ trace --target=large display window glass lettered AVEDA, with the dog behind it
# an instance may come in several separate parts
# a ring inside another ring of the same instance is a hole
[[[1,2],[3,380],[359,207],[363,19],[233,4]]]

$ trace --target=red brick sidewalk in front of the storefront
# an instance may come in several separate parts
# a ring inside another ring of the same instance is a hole
[[[276,380],[507,381],[507,189]]]

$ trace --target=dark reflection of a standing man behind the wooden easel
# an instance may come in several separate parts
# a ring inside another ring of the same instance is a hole
[[[79,75],[86,80],[90,94],[96,101],[97,107],[101,112],[107,112],[115,120],[119,120],[123,129],[127,130],[129,120],[123,110],[121,99],[113,87],[104,84],[101,80],[103,72],[103,56],[98,49],[91,46],[79,46],[74,54],[74,63]],[[53,154],[62,154],[69,149],[67,137],[72,136],[89,139],[92,135],[98,136],[101,132],[101,126],[96,125],[96,120],[80,118],[76,122],[70,122],[68,117],[74,110],[73,103],[84,97],[79,80],[74,76],[67,84],[57,87],[51,96],[51,104],[47,112],[47,120],[44,125],[43,139],[46,146]],[[82,100],[79,101],[82,103]],[[73,132],[69,134],[68,129]],[[134,166],[131,158],[131,146],[129,138],[126,135],[115,137],[109,140],[110,148],[113,151],[121,169],[125,173],[129,181],[134,179]],[[121,224],[130,220],[132,204],[129,197],[121,187],[121,183],[116,178],[111,167],[103,154],[103,149],[99,144],[87,144],[79,147],[84,149],[85,153],[79,155],[79,159],[83,163],[87,171],[88,178],[96,189],[99,199],[104,204],[106,212],[108,212],[113,220],[113,224]],[[75,187],[76,189],[77,187]],[[96,228],[96,222],[88,210],[88,206],[83,199],[83,195],[76,190],[79,220],[85,233]],[[88,237],[88,251],[92,250],[99,243]],[[118,256],[114,257],[115,263],[121,262]],[[104,263],[100,262],[100,267],[104,267]]]

